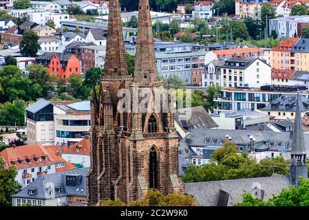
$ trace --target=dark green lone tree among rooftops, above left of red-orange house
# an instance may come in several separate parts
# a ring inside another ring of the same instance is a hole
[[[25,30],[19,45],[21,55],[36,57],[36,53],[41,50],[41,46],[39,45],[38,41],[38,34],[36,34],[33,30]]]

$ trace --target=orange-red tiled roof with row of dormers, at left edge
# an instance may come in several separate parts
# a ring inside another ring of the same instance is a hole
[[[12,162],[17,162],[17,169],[54,164],[54,159],[42,144],[6,148],[0,152],[0,155],[5,160],[7,167],[14,166]],[[47,160],[43,158],[45,156],[47,156]],[[41,161],[36,162],[34,158],[40,158]],[[27,162],[26,159],[31,159],[31,162]],[[23,164],[21,164],[21,162],[23,162]]]

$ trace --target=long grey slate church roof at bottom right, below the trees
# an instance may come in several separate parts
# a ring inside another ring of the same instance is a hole
[[[264,190],[264,200],[273,195],[278,195],[284,188],[292,186],[290,177],[273,175],[271,177],[258,177],[248,179],[230,179],[222,181],[206,181],[184,184],[184,191],[200,203],[201,206],[217,206],[220,198],[220,190],[228,193],[227,206],[242,201],[244,191],[255,197],[256,193],[261,198],[261,190]],[[220,198],[221,199],[221,198]]]

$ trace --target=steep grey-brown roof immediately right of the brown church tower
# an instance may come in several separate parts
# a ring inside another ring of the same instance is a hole
[[[187,114],[191,117],[187,118]],[[175,112],[175,121],[179,126],[182,126],[182,129],[189,126],[193,129],[199,127],[215,128],[218,126],[202,106],[177,109]]]

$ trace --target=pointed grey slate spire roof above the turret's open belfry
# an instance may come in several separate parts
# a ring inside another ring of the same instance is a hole
[[[301,121],[301,95],[297,94],[295,126],[293,130],[293,141],[291,155],[306,155],[305,141],[303,140],[303,122]]]

